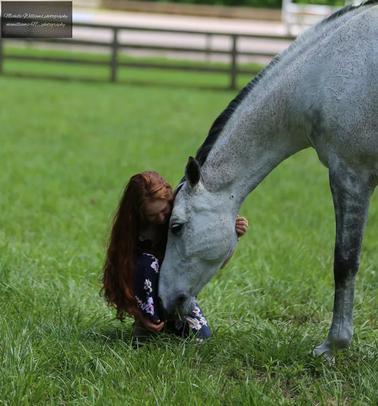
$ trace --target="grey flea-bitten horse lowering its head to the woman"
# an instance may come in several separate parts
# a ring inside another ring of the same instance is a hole
[[[189,158],[160,270],[166,314],[194,297],[236,246],[247,195],[283,160],[315,148],[329,168],[336,217],[333,358],[353,335],[355,278],[370,196],[378,183],[378,0],[347,6],[307,29],[242,89]],[[300,169],[299,169],[300,170]]]

